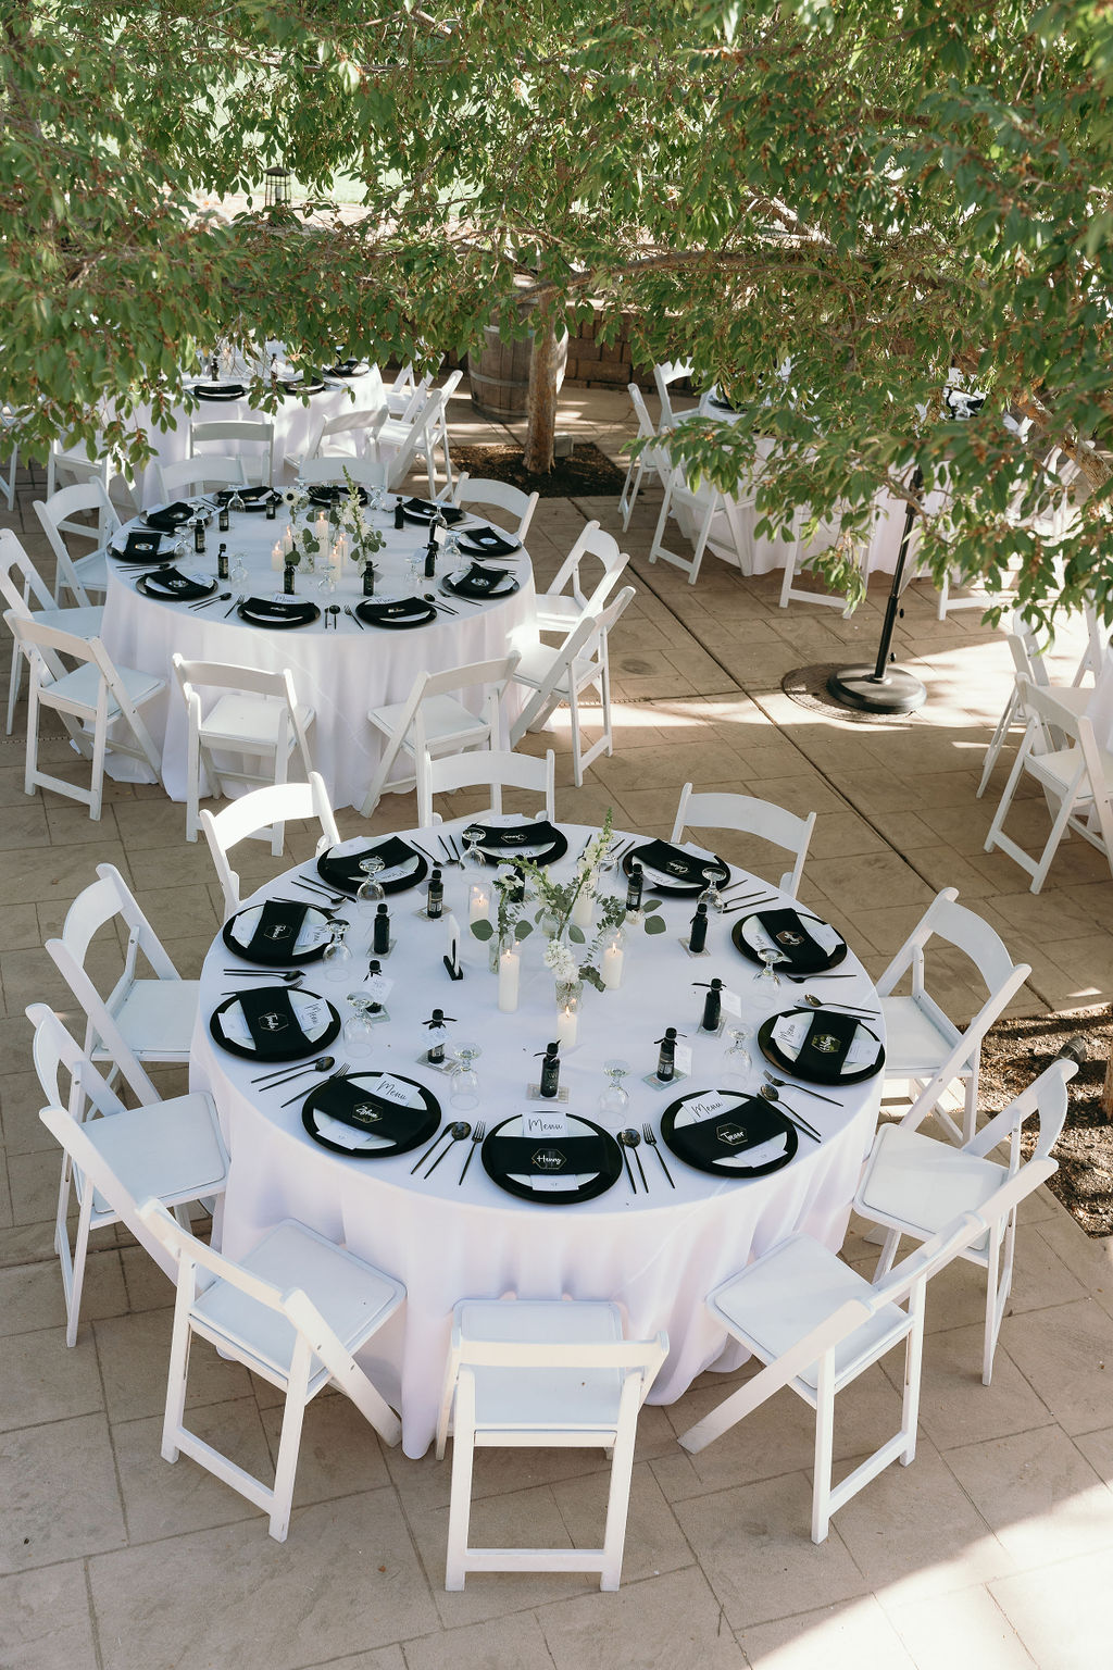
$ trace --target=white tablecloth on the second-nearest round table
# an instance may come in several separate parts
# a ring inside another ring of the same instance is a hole
[[[380,578],[375,595],[409,596],[415,588],[407,581],[409,559],[421,549],[424,558],[426,531],[407,523],[402,531],[394,528],[394,501],[382,511],[367,511],[372,526],[385,534],[385,548],[375,556]],[[122,544],[127,533],[138,526],[135,518],[117,536]],[[244,621],[235,611],[239,596],[272,598],[282,593],[282,571],[272,568],[272,548],[289,526],[285,506],[275,521],[267,521],[260,511],[237,511],[227,533],[219,533],[214,516],[207,529],[207,551],[195,556],[192,541],[184,558],[174,558],[185,574],[215,576],[217,546],[224,541],[229,558],[242,553],[247,579],[224,581],[220,591],[232,591],[227,603],[212,603],[190,610],[184,603],[144,596],[135,590],[145,569],[132,569],[108,558],[108,595],[102,638],[113,661],[138,668],[167,680],[160,691],[144,708],[144,720],[155,746],[162,753],[162,780],[172,800],[185,800],[185,745],[187,716],[174,678],[170,656],[177,650],[189,661],[224,661],[230,665],[280,670],[289,666],[299,701],[314,708],[315,720],[309,733],[309,752],[314,767],[325,780],[334,807],[360,807],[380,757],[382,736],[369,721],[369,708],[390,701],[404,701],[414,680],[422,671],[439,671],[464,666],[469,661],[486,661],[507,653],[516,628],[534,618],[534,581],[529,554],[519,549],[506,568],[519,581],[517,591],[484,603],[441,595],[442,578],[452,563],[439,558],[439,579],[421,579],[419,591],[432,591],[456,615],[437,613],[427,626],[387,630],[367,626],[360,630],[349,615],[330,616],[335,630],[325,626],[325,616],[307,626],[265,628]],[[482,518],[469,516],[457,524],[461,533],[482,526]],[[189,529],[187,529],[189,533]],[[459,558],[466,566],[467,558]],[[497,563],[496,566],[504,566]],[[354,608],[362,600],[362,581],[350,563],[330,595],[317,590],[319,576],[299,568],[297,600],[317,605]],[[232,610],[232,613],[227,613]],[[472,696],[477,705],[481,693]],[[516,686],[507,690],[507,715],[516,716],[514,703],[521,700]],[[113,775],[138,775],[145,767],[120,762]],[[405,762],[397,767],[399,778],[405,775]]]

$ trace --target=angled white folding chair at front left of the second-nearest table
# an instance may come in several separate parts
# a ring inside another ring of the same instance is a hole
[[[144,725],[138,708],[165,690],[164,678],[140,673],[132,666],[115,666],[100,638],[78,638],[72,631],[45,623],[40,616],[15,615],[7,610],[8,631],[18,638],[30,661],[30,698],[27,705],[27,767],[23,788],[33,795],[37,788],[53,788],[57,795],[80,800],[88,807],[90,818],[100,818],[103,802],[105,757],[108,752],[142,760],[162,782],[159,750]],[[77,661],[67,671],[60,660]],[[73,746],[90,762],[92,782],[78,788],[62,777],[52,777],[38,765],[38,713],[48,708],[58,715]],[[108,726],[115,735],[108,736]],[[127,726],[133,741],[120,735]]]

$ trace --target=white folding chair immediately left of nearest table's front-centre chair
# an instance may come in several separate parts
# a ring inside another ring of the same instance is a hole
[[[399,1418],[359,1368],[355,1353],[394,1316],[405,1288],[289,1217],[234,1263],[190,1236],[154,1199],[140,1206],[138,1216],[177,1263],[162,1456],[177,1461],[184,1453],[224,1480],[269,1515],[270,1535],[284,1543],[305,1406],[319,1391],[335,1384],[384,1443],[397,1445],[402,1436]],[[194,1336],[282,1391],[274,1485],[237,1466],[185,1426]]]

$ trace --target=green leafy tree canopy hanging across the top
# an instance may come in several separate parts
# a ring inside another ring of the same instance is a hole
[[[743,407],[682,426],[691,468],[729,488],[776,439],[773,521],[946,489],[936,566],[1113,618],[1111,72],[1098,0],[8,0],[0,394],[32,449],[142,458],[215,336],[429,362],[597,306]]]

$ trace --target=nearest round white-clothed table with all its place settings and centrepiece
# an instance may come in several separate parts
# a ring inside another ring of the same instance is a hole
[[[619,1298],[669,1329],[661,1401],[734,1366],[703,1294],[793,1229],[839,1244],[883,1044],[853,950],[774,887],[507,815],[355,837],[254,895],[205,962],[190,1079],[232,1256],[292,1216],[405,1281],[379,1369],[421,1455],[462,1296]]]

